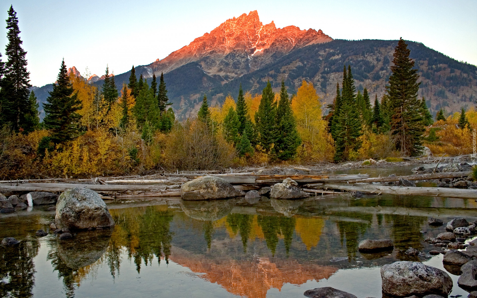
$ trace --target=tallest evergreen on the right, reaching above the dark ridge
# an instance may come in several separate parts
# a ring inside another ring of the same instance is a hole
[[[394,50],[394,65],[391,66],[392,74],[386,91],[393,112],[391,134],[394,135],[394,144],[404,154],[415,156],[423,150],[421,138],[425,128],[419,113],[421,103],[417,99],[419,75],[413,69],[414,61],[409,58],[410,52],[401,38]]]

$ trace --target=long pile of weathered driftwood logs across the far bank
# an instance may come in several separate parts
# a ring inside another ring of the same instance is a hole
[[[316,170],[294,167],[303,175],[260,175],[261,171],[215,174],[218,171],[160,173],[149,176],[98,177],[92,179],[36,179],[0,181],[0,193],[18,194],[31,191],[62,192],[69,188],[85,187],[110,198],[140,199],[145,197],[180,196],[180,186],[204,175],[219,176],[240,190],[259,189],[291,178],[304,191],[315,194],[333,194],[336,191],[395,195],[427,195],[440,197],[474,198],[477,190],[442,187],[386,186],[381,182],[402,180],[435,180],[467,177],[471,172],[444,172],[435,174],[389,176],[370,178],[369,175],[316,175]],[[232,171],[230,171],[232,172]],[[370,184],[371,183],[371,184]]]

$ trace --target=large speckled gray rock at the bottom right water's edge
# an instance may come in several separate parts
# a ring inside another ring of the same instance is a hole
[[[452,290],[452,279],[435,267],[420,262],[394,262],[381,267],[383,293],[407,297],[438,294],[447,297]]]

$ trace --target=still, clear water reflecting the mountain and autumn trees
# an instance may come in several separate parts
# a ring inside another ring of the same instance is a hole
[[[326,286],[381,297],[384,264],[413,260],[445,270],[424,242],[445,229],[429,226],[428,217],[477,219],[474,200],[425,196],[152,204],[109,205],[113,229],[62,241],[34,235],[54,219],[45,208],[1,215],[0,237],[22,242],[0,247],[0,297],[304,297]],[[391,238],[394,250],[362,254],[365,238]],[[424,256],[405,255],[409,247]],[[467,297],[449,275],[451,295]]]

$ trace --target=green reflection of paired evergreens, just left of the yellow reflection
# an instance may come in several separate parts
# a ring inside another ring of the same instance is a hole
[[[275,255],[279,236],[283,235],[285,250],[288,255],[290,252],[293,232],[295,230],[295,218],[284,216],[258,216],[257,222],[262,228],[267,247],[270,249],[272,256]]]

